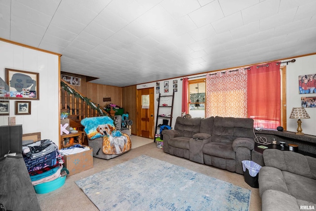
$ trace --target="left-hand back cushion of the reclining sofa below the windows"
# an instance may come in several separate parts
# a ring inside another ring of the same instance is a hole
[[[180,133],[180,136],[192,137],[194,134],[199,132],[201,124],[201,118],[182,118],[177,117],[174,129]]]

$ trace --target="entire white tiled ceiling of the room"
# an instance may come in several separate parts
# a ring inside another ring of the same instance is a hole
[[[0,37],[61,53],[62,71],[100,78],[93,83],[127,86],[315,53],[315,8],[315,0],[1,0]],[[129,80],[117,77],[126,72]]]

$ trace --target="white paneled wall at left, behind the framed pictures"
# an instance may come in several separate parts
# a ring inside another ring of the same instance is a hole
[[[10,101],[10,115],[0,116],[0,126],[8,117],[16,117],[23,133],[41,132],[42,139],[59,145],[59,56],[0,41],[0,77],[5,81],[5,68],[39,73],[40,100],[31,101],[31,115],[15,115],[15,101]],[[27,99],[25,99],[27,100]]]

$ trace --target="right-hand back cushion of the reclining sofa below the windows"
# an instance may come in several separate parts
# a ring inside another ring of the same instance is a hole
[[[254,138],[253,119],[215,117],[212,142],[232,143],[238,137]]]

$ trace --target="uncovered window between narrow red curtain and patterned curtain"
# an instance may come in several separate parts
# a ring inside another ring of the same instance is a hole
[[[205,117],[205,80],[189,81],[189,114],[192,117]]]

